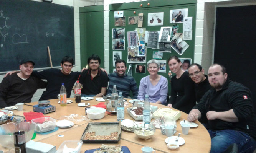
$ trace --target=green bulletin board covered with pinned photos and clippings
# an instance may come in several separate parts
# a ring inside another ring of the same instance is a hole
[[[121,51],[122,57],[124,61],[126,61],[127,70],[129,65],[132,64],[132,76],[135,78],[137,85],[139,87],[140,80],[149,75],[147,71],[147,63],[127,63],[127,31],[134,31],[135,28],[138,28],[138,25],[128,25],[129,20],[128,17],[131,16],[138,16],[139,13],[143,13],[143,25],[142,28],[146,28],[146,31],[160,31],[162,26],[173,26],[175,24],[179,25],[178,33],[183,32],[183,23],[170,23],[170,10],[176,9],[184,9],[188,8],[188,17],[193,17],[192,20],[192,40],[185,40],[189,45],[188,49],[182,55],[179,55],[175,50],[171,49],[172,53],[163,53],[162,59],[157,60],[166,60],[166,72],[165,73],[158,73],[166,77],[169,80],[168,72],[169,67],[167,60],[170,56],[176,55],[179,58],[191,58],[192,62],[194,60],[194,49],[195,49],[195,21],[196,21],[196,0],[154,0],[154,1],[144,1],[144,2],[132,2],[132,3],[122,3],[122,4],[111,4],[109,5],[109,65],[110,65],[110,73],[113,72],[115,68],[113,66],[113,51]],[[142,4],[142,7],[141,7]],[[149,5],[148,5],[149,4]],[[115,18],[114,12],[115,11],[124,11],[124,16],[126,17],[126,25],[125,26],[115,26]],[[135,13],[134,13],[135,12]],[[147,16],[148,13],[157,13],[157,12],[164,12],[164,21],[162,26],[148,26],[147,25]],[[125,50],[113,50],[112,49],[112,28],[125,28]],[[147,44],[145,44],[147,46]],[[146,52],[146,61],[153,59],[153,51],[159,51],[159,49],[151,49],[147,48]],[[145,74],[143,73],[136,73],[136,64],[146,65]],[[174,74],[173,74],[174,75]],[[170,91],[170,84],[169,84],[169,91]]]

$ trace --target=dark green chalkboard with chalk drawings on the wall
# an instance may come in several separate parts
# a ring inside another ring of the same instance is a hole
[[[17,70],[20,60],[35,68],[60,66],[65,55],[74,57],[74,8],[30,0],[0,1],[0,72]]]

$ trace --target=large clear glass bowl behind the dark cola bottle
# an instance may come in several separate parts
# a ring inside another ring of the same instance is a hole
[[[28,122],[21,122],[20,124],[25,130],[26,142],[28,142],[33,137],[35,131],[35,124],[31,124]],[[2,124],[0,126],[0,145],[7,148],[13,148],[13,132],[15,132],[15,124],[13,122]]]

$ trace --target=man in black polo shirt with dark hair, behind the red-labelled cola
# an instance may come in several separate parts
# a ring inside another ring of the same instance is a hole
[[[101,59],[98,55],[92,54],[88,58],[89,69],[84,70],[79,78],[79,83],[83,85],[82,96],[102,97],[106,95],[108,77],[107,73],[99,69]]]

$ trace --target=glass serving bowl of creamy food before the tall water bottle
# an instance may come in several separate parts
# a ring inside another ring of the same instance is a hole
[[[155,126],[152,124],[139,124],[133,126],[133,132],[141,139],[151,138],[155,133]]]

